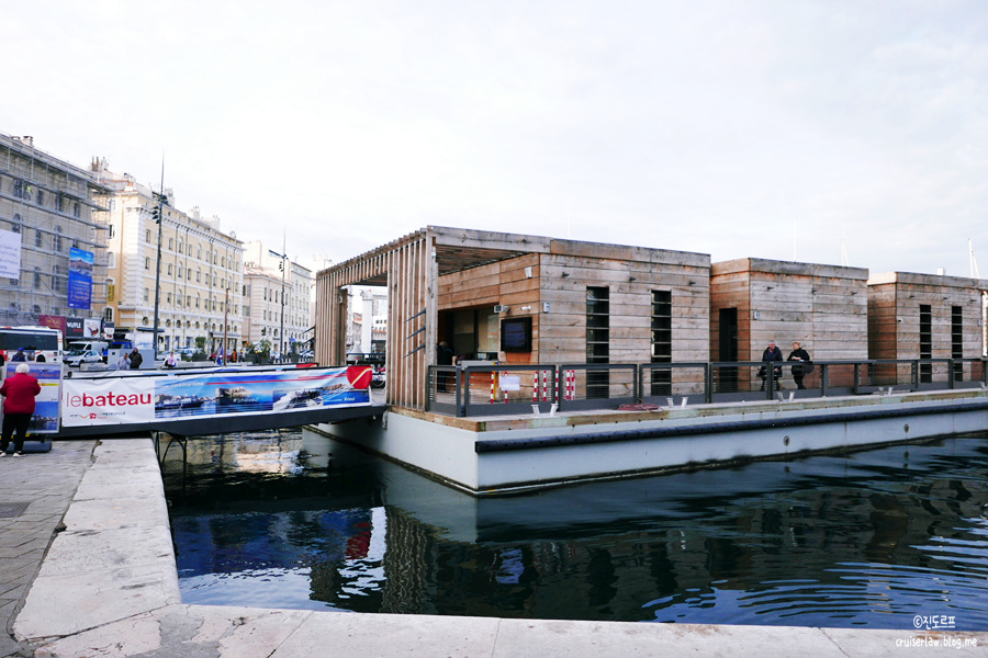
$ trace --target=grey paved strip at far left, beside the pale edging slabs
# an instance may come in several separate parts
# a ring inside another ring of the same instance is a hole
[[[13,620],[68,510],[96,441],[56,442],[48,453],[0,457],[0,656],[32,656]]]

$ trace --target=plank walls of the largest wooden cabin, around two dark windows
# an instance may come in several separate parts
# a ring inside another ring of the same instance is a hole
[[[531,277],[526,268],[531,268]],[[584,363],[586,288],[607,286],[610,362],[647,363],[651,360],[652,291],[671,291],[673,360],[707,361],[709,280],[706,254],[552,240],[549,253],[441,276],[438,307],[503,304],[509,307],[503,317],[532,316],[531,354],[502,354],[508,363]],[[543,311],[547,303],[548,313]],[[523,310],[526,306],[530,308]]]

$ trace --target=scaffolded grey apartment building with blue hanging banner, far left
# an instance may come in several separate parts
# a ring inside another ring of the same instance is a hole
[[[105,227],[91,172],[0,134],[0,325],[101,317]],[[81,322],[77,322],[81,326]]]

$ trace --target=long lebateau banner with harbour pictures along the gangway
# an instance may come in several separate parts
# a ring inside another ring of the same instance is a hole
[[[370,368],[218,370],[159,377],[66,379],[65,427],[370,405]]]

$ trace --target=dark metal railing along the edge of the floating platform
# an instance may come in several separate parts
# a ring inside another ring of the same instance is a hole
[[[429,410],[494,416],[988,388],[986,359],[433,365]]]

